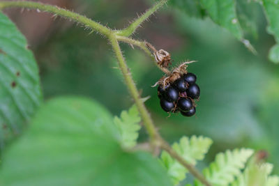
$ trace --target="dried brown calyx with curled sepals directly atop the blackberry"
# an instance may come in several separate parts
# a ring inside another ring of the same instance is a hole
[[[187,73],[188,64],[194,63],[194,62],[196,62],[196,61],[187,61],[187,62],[182,63],[178,67],[172,69],[172,72],[167,77],[166,76],[161,77],[159,79],[159,81],[156,82],[156,84],[153,86],[159,85],[159,86],[163,86],[165,88],[169,84],[174,83],[176,81],[176,79],[183,77],[183,75]]]

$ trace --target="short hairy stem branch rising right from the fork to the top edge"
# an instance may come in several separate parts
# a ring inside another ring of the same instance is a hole
[[[158,3],[155,3],[153,7],[151,7],[149,10],[146,10],[144,14],[142,14],[140,17],[138,17],[133,23],[131,23],[126,29],[123,29],[121,31],[116,31],[116,34],[119,36],[131,36],[137,28],[142,24],[142,22],[145,22],[149,19],[153,13],[155,13],[159,8],[165,5],[167,3],[167,0],[161,0]]]

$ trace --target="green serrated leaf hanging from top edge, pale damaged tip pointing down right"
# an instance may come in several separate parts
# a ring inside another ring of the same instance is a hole
[[[243,42],[252,53],[257,54],[250,41],[246,40],[243,36],[243,29],[257,36],[255,22],[250,20],[250,17],[254,16],[251,11],[255,9],[254,7],[251,8],[250,5],[252,3],[249,3],[250,9],[248,10],[245,7],[248,6],[246,3],[241,2],[237,4],[236,0],[171,0],[169,4],[183,10],[183,12],[186,12],[190,16],[206,17],[208,15],[213,22],[227,29],[238,40]],[[237,7],[236,4],[238,5]],[[241,26],[243,26],[243,29]]]

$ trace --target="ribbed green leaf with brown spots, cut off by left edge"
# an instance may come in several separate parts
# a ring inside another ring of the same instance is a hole
[[[38,66],[27,40],[0,13],[0,150],[22,132],[41,102]]]

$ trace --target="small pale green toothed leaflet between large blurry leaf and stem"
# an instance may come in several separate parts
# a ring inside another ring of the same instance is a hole
[[[115,116],[114,124],[119,128],[123,146],[130,148],[137,144],[141,126],[140,114],[135,104],[128,111],[122,111],[120,118]]]

